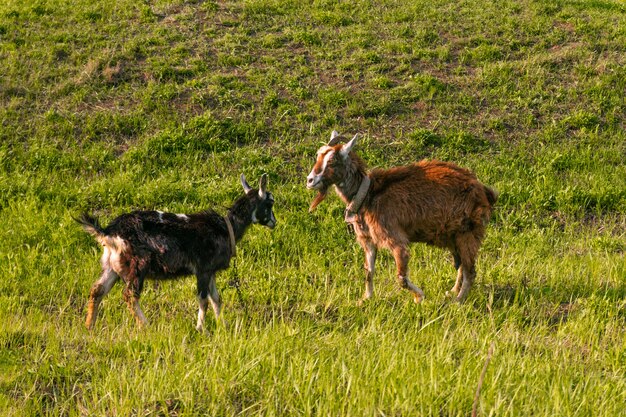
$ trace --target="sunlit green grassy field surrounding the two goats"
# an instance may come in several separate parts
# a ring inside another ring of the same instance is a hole
[[[0,414],[624,416],[622,0],[0,2]],[[363,307],[344,206],[305,189],[333,129],[370,167],[454,161],[500,192],[467,302],[447,253],[388,253]],[[195,279],[113,289],[71,217],[224,213],[267,172],[243,302],[194,329]]]

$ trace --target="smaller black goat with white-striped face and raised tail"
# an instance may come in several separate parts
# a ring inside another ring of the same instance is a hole
[[[86,326],[93,328],[98,306],[113,285],[122,278],[124,300],[137,324],[147,320],[139,307],[144,279],[172,279],[194,274],[197,280],[198,321],[202,330],[209,300],[216,320],[221,302],[215,285],[217,271],[228,268],[235,255],[235,243],[248,226],[259,223],[273,229],[274,197],[267,191],[267,174],[259,190],[241,175],[245,195],[238,198],[222,217],[213,210],[194,214],[161,211],[133,211],[122,214],[103,228],[97,218],[83,214],[75,219],[104,247],[100,278],[89,294]]]

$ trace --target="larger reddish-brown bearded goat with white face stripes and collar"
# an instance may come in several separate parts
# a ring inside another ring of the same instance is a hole
[[[410,242],[424,242],[452,252],[457,278],[450,290],[462,302],[476,277],[478,249],[485,235],[497,192],[480,183],[467,169],[437,160],[421,161],[369,174],[352,149],[358,134],[346,144],[336,131],[330,142],[317,151],[307,176],[307,188],[317,190],[309,211],[335,186],[347,204],[345,221],[354,228],[365,252],[365,293],[374,293],[374,263],[382,247],[391,251],[397,279],[416,303],[424,292],[408,278]]]

